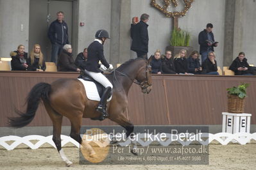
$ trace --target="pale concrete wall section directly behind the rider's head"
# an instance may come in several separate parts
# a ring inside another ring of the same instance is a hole
[[[78,22],[85,22],[85,26],[78,28],[78,52],[82,52],[92,43],[98,29],[105,29],[110,34],[110,21],[111,0],[80,1]],[[110,42],[108,40],[104,45],[104,54],[109,61]]]

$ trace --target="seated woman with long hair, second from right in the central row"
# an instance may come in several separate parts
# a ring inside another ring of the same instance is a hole
[[[187,66],[189,73],[201,74],[203,69],[200,65],[199,52],[197,50],[192,51],[189,58],[187,58]]]

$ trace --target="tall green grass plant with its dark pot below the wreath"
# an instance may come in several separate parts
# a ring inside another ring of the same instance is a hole
[[[187,50],[187,57],[191,54],[193,48],[189,46],[191,35],[188,31],[180,28],[173,29],[171,33],[170,45],[166,47],[166,50],[171,50],[173,56],[178,54],[180,50]]]

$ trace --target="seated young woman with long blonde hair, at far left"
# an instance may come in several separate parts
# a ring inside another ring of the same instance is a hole
[[[37,72],[44,72],[46,70],[46,61],[44,61],[44,56],[39,44],[35,44],[34,49],[30,52],[28,70]]]

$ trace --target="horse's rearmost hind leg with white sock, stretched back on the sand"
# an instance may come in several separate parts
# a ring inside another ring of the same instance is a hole
[[[55,112],[53,108],[46,102],[44,102],[44,105],[46,106],[46,111],[48,112],[51,121],[53,121],[53,142],[55,143],[58,153],[60,154],[62,160],[64,160],[66,166],[71,166],[73,163],[65,156],[65,153],[62,150],[62,139],[60,138],[63,116],[58,114],[58,112]]]

